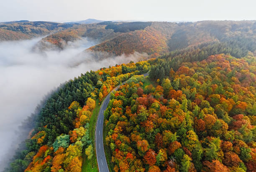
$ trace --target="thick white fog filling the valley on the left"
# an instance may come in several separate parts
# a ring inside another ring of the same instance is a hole
[[[0,42],[0,171],[21,142],[18,135],[23,134],[23,139],[28,136],[28,131],[20,131],[19,126],[47,93],[86,71],[137,61],[140,56],[135,53],[100,61],[93,60],[93,56],[86,52],[77,56],[95,45],[96,42],[86,38],[69,42],[61,51],[31,51],[40,39]],[[75,67],[71,67],[74,64]]]

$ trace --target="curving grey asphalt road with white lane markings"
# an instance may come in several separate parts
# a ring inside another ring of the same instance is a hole
[[[148,76],[148,73],[143,74]],[[126,82],[126,81],[125,81]],[[123,82],[122,84],[124,84]],[[118,85],[120,87],[120,85]],[[115,87],[114,90],[118,90],[118,87]],[[99,172],[109,172],[108,164],[105,157],[104,147],[103,147],[103,122],[104,122],[104,111],[107,109],[108,103],[110,101],[110,93],[107,95],[105,100],[102,102],[100,107],[100,112],[98,114],[95,130],[95,144],[96,144],[96,155],[97,162],[99,167]]]

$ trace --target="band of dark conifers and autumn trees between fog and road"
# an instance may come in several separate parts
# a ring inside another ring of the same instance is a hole
[[[17,152],[5,171],[80,172],[82,159],[95,157],[94,138],[89,137],[88,124],[95,100],[102,101],[121,82],[148,71],[149,65],[131,62],[102,68],[81,74],[61,86],[41,109],[33,137],[26,140],[26,149]]]

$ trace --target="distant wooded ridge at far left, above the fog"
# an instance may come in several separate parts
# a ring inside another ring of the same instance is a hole
[[[33,37],[49,35],[72,27],[73,24],[56,22],[15,21],[0,23],[0,41],[27,40]]]

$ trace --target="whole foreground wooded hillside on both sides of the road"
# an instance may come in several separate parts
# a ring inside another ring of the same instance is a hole
[[[138,76],[148,70],[148,78]],[[215,43],[81,74],[47,100],[26,149],[5,171],[97,172],[100,104],[128,80],[105,111],[110,171],[253,172],[255,71],[252,53]]]

